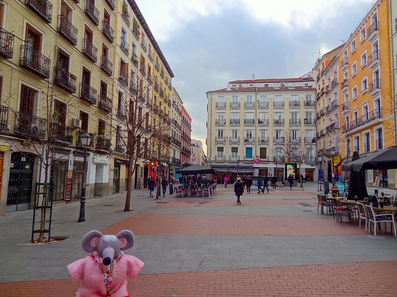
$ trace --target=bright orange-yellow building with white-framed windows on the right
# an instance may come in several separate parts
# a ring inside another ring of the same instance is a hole
[[[339,52],[341,156],[394,145],[389,1],[376,1]],[[367,185],[395,188],[394,170],[367,171]]]

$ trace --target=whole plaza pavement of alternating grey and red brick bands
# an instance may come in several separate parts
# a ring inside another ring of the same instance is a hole
[[[218,185],[210,198],[133,192],[54,207],[52,245],[29,244],[32,210],[0,217],[0,297],[74,296],[66,265],[85,257],[92,229],[135,234],[127,251],[145,262],[131,296],[397,296],[397,239],[317,212],[317,184],[244,193]],[[167,191],[168,192],[168,191]]]

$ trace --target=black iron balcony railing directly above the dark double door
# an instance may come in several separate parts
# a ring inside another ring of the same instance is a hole
[[[27,112],[16,112],[15,131],[29,137],[44,139],[46,137],[47,120],[33,116]]]

